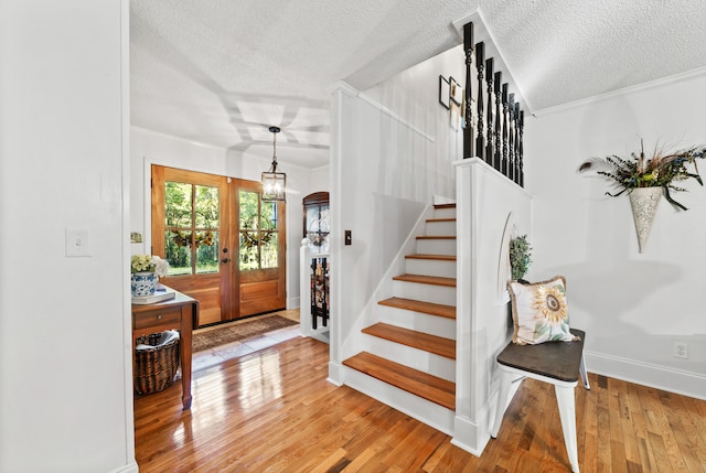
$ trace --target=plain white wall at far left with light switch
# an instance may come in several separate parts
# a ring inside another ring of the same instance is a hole
[[[128,8],[0,3],[2,472],[137,472]],[[66,256],[66,229],[90,257]]]

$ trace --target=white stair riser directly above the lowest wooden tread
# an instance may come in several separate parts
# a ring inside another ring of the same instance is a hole
[[[365,351],[382,358],[392,359],[400,365],[424,372],[436,377],[454,381],[456,361],[389,340],[364,334]]]

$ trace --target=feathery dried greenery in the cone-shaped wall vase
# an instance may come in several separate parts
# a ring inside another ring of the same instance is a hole
[[[606,192],[611,197],[617,197],[624,192],[632,192],[639,187],[662,187],[664,197],[676,208],[686,211],[687,208],[672,198],[670,191],[682,192],[684,187],[675,185],[675,182],[693,178],[700,185],[704,185],[698,168],[697,159],[706,158],[706,146],[692,147],[675,152],[665,152],[664,149],[655,146],[652,157],[646,158],[644,146],[641,142],[640,154],[631,153],[631,159],[623,159],[618,155],[607,158],[592,158],[585,161],[579,166],[580,173],[596,173],[609,179],[618,189],[618,192]],[[689,171],[693,164],[694,172]]]

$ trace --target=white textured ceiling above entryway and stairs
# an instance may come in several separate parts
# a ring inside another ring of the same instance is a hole
[[[357,89],[457,44],[481,7],[543,110],[706,66],[703,0],[131,0],[131,122],[280,162],[329,160],[327,89]]]

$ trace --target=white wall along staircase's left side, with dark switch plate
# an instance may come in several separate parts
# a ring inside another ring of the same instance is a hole
[[[363,93],[332,100],[332,361],[434,195],[454,197],[462,133],[438,101],[439,75],[460,77],[451,50]],[[352,245],[343,246],[343,232]],[[338,268],[344,268],[336,270]],[[336,346],[338,345],[338,346]],[[332,374],[332,378],[336,378]]]

